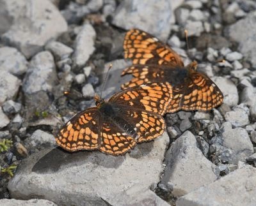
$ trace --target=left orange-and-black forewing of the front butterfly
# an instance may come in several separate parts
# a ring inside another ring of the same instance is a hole
[[[100,146],[99,110],[88,108],[75,115],[60,129],[55,140],[67,151],[93,150]]]

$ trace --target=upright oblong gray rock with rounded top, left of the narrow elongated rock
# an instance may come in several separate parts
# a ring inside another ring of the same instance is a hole
[[[52,91],[56,80],[56,68],[51,52],[40,52],[31,59],[22,89],[27,94]]]

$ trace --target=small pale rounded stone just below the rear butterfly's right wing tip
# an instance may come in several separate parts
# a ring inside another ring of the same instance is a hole
[[[234,108],[234,110],[227,112],[224,117],[226,121],[230,122],[236,128],[246,126],[250,123],[248,114],[241,108]]]

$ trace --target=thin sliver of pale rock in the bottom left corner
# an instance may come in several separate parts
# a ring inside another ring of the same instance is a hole
[[[55,206],[56,203],[49,200],[31,199],[31,200],[15,200],[15,199],[1,199],[0,205],[4,206]],[[56,205],[57,206],[57,205]]]

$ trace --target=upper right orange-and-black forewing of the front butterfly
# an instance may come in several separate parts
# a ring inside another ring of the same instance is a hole
[[[163,115],[172,99],[172,86],[168,82],[154,82],[125,89],[109,99],[120,108],[138,108]]]

